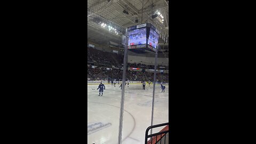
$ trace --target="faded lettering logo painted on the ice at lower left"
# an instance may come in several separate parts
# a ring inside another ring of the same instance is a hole
[[[112,125],[111,123],[102,123],[102,122],[89,123],[87,124],[87,135],[103,130],[106,127],[109,127],[111,125]]]

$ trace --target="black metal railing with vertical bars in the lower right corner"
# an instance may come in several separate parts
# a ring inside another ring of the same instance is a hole
[[[153,133],[153,134],[149,134],[149,135],[148,135],[148,131],[149,131],[150,129],[153,129],[153,128],[156,128],[156,127],[160,127],[160,126],[165,126],[165,125],[169,125],[169,123],[163,123],[163,124],[157,124],[157,125],[149,126],[149,127],[147,128],[146,134],[145,134],[145,144],[148,143],[148,138],[150,138],[151,143],[152,143],[152,142],[157,143],[157,142],[159,142],[159,141],[160,141],[160,143],[162,143],[162,139],[164,138],[164,143],[165,143],[165,140],[166,140],[166,133],[169,133],[169,130],[167,130],[167,131],[160,131],[160,132],[157,132],[157,133]],[[158,140],[157,140],[157,136],[159,137]],[[155,140],[153,141],[153,137],[156,138],[156,141],[155,141]]]

